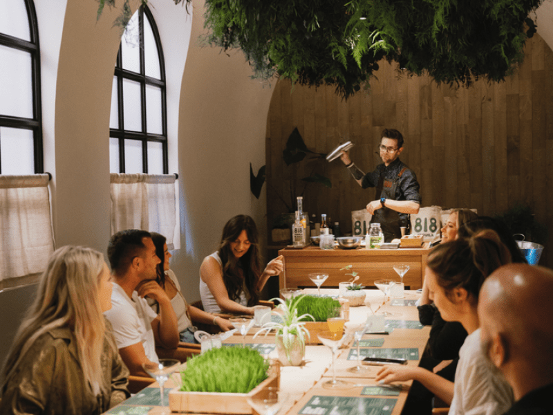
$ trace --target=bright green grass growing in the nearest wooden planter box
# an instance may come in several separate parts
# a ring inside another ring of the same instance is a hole
[[[187,361],[181,391],[247,394],[268,378],[269,364],[250,347],[210,349]]]

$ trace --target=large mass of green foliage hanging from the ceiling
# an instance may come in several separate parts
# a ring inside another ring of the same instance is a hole
[[[330,84],[344,98],[380,59],[438,83],[504,80],[541,0],[206,0],[207,42],[240,48],[257,77]],[[526,24],[526,25],[525,25]]]

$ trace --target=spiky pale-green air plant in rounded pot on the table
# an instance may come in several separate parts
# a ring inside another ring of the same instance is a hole
[[[268,322],[263,324],[263,327],[254,335],[254,338],[259,333],[267,335],[271,330],[277,330],[275,335],[275,343],[277,344],[277,353],[279,361],[284,366],[299,366],[303,362],[303,356],[306,354],[306,337],[310,339],[310,333],[306,329],[306,320],[310,318],[315,321],[312,315],[303,314],[298,316],[297,306],[305,295],[292,297],[288,301],[283,301],[280,298],[273,298],[280,304],[277,306],[279,311],[273,313],[281,321]]]

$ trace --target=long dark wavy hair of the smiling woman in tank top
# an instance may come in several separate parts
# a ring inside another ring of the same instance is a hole
[[[245,230],[247,240],[250,241],[250,248],[240,258],[232,253],[230,244]],[[223,282],[229,294],[229,299],[238,299],[243,288],[243,281],[250,298],[247,305],[254,306],[259,301],[257,281],[261,275],[261,252],[259,251],[259,234],[254,219],[245,214],[238,214],[231,218],[223,228],[221,245],[218,250],[219,257],[223,263]],[[242,270],[242,280],[239,270]]]

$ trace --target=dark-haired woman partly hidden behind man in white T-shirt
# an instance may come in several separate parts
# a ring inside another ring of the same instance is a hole
[[[171,258],[171,253],[167,250],[165,237],[156,232],[150,233],[153,244],[156,246],[156,255],[161,259],[161,264],[158,265],[157,282],[165,290],[169,299],[171,299],[171,305],[178,319],[180,341],[188,343],[196,342],[194,338],[195,328],[193,322],[217,324],[222,331],[233,329],[234,326],[232,326],[228,320],[187,304],[185,296],[180,292],[180,284],[178,283],[175,273],[169,269],[169,258]],[[147,297],[146,299],[153,311],[158,313],[158,303],[151,298]]]

